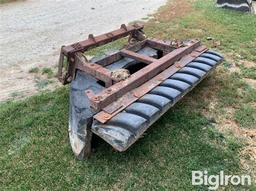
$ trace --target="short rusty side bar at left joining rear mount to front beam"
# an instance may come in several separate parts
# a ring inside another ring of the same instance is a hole
[[[75,67],[82,70],[85,74],[91,75],[96,79],[99,79],[107,84],[113,84],[117,82],[113,77],[111,77],[111,70],[108,70],[97,63],[87,62],[83,53],[76,53],[75,56]]]

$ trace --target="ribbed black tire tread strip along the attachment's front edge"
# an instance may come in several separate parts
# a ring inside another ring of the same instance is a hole
[[[222,60],[223,56],[212,50],[201,54],[110,121],[105,124],[94,121],[92,132],[118,151],[125,151],[164,112],[211,73]]]

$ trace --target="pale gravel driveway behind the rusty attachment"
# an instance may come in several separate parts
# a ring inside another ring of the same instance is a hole
[[[21,1],[0,5],[0,101],[35,92],[32,67],[56,65],[59,49],[146,17],[165,0]]]

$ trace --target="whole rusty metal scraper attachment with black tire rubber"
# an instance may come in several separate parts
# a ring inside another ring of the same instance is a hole
[[[76,83],[71,83],[71,88],[78,86],[77,84],[83,86],[83,84],[87,83],[83,80],[76,81],[76,75],[85,75],[86,79],[93,81],[88,82],[88,84],[86,84],[87,88],[81,90],[83,95],[72,95],[74,97],[82,96],[84,100],[81,105],[85,105],[84,107],[86,107],[86,109],[81,109],[80,107],[82,106],[80,105],[76,106],[78,109],[70,109],[71,115],[78,112],[77,116],[84,117],[84,115],[90,115],[90,117],[87,117],[86,120],[84,118],[79,119],[79,122],[71,121],[70,124],[73,125],[82,122],[87,124],[91,120],[90,124],[92,124],[92,122],[94,124],[92,131],[102,136],[102,138],[119,151],[125,150],[129,145],[134,143],[138,138],[137,132],[135,133],[136,135],[133,135],[135,136],[134,141],[129,140],[126,146],[120,146],[120,144],[116,145],[120,140],[114,140],[112,143],[112,138],[110,140],[110,138],[107,137],[110,136],[107,133],[111,133],[112,130],[104,129],[105,124],[109,125],[107,128],[110,128],[111,125],[116,126],[119,123],[125,124],[126,122],[123,121],[126,119],[122,117],[122,115],[126,112],[130,112],[130,115],[133,115],[132,117],[139,115],[139,121],[143,121],[144,119],[151,121],[152,116],[148,117],[146,114],[137,111],[139,105],[146,107],[146,109],[144,108],[146,113],[156,111],[156,115],[160,117],[160,112],[163,114],[163,112],[166,111],[161,108],[163,106],[160,106],[160,103],[163,104],[166,102],[166,105],[171,105],[168,103],[169,101],[174,104],[176,102],[173,98],[174,95],[177,94],[177,96],[179,95],[180,97],[181,94],[185,95],[188,91],[187,89],[192,89],[196,86],[195,84],[203,79],[206,73],[209,73],[216,67],[223,58],[219,53],[211,52],[206,46],[201,45],[199,38],[180,42],[147,38],[143,27],[143,24],[140,23],[130,26],[122,24],[118,30],[97,37],[90,34],[87,40],[70,46],[63,46],[60,52],[58,79],[61,83],[68,84],[72,80],[75,80]],[[86,59],[86,51],[126,36],[129,36],[128,42],[123,48],[119,49],[119,51],[106,54],[102,56],[102,58],[92,59],[91,61]],[[150,51],[143,52],[145,49]],[[131,74],[129,70],[124,67],[126,65],[120,65],[120,68],[117,67],[113,69],[114,67],[112,66],[118,65],[119,61],[143,63],[143,67]],[[66,63],[65,68],[64,63]],[[172,76],[176,77],[170,80]],[[186,77],[188,77],[188,80]],[[99,83],[101,87],[99,87],[99,84],[96,86],[91,83]],[[170,95],[165,95],[166,88],[171,89]],[[76,89],[79,88],[76,87]],[[163,95],[167,98],[161,97]],[[151,97],[157,96],[161,99],[159,103],[148,104],[154,101]],[[166,105],[165,107],[167,107]],[[168,107],[170,108],[171,106]],[[83,111],[85,112],[84,115],[80,114],[80,112]],[[77,116],[73,117],[73,120],[77,121],[79,118]],[[156,119],[152,118],[152,121],[155,120]],[[112,123],[111,121],[114,122]],[[137,123],[136,119],[134,119],[134,123]],[[147,123],[146,126],[148,127],[150,124],[151,123]],[[86,125],[80,124],[79,126]],[[136,128],[139,128],[139,126],[141,125],[137,124]],[[83,158],[84,155],[90,154],[89,148],[85,148],[84,145],[86,145],[85,139],[91,139],[91,136],[85,133],[84,139],[80,143],[80,140],[82,140],[80,138],[83,136],[79,134],[78,141],[78,138],[75,137],[78,135],[73,135],[73,132],[78,132],[78,127],[75,127],[76,130],[72,130],[72,128],[74,128],[74,126],[70,126],[69,128],[72,149],[78,158]],[[86,128],[89,128],[89,130],[86,129],[85,132],[91,132],[90,127],[86,126]],[[100,128],[103,129],[99,130]],[[115,132],[117,134],[111,135],[114,139],[121,136],[121,134],[118,134],[118,130],[115,131],[117,131]],[[124,138],[124,140],[126,142],[128,138]],[[80,151],[81,148],[82,150]]]

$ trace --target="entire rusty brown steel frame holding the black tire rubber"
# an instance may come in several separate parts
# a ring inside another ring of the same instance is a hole
[[[180,68],[186,66],[208,49],[205,46],[201,46],[201,41],[198,38],[186,44],[178,42],[170,44],[170,42],[156,38],[146,38],[142,29],[142,24],[131,26],[123,24],[118,30],[97,37],[93,37],[90,34],[87,40],[62,47],[58,70],[60,82],[67,84],[72,79],[75,79],[76,69],[105,82],[107,89],[97,95],[92,90],[85,91],[90,100],[91,108],[95,111],[100,111],[93,118],[101,123],[107,122],[111,117],[178,72]],[[130,35],[129,43],[125,48],[101,60],[88,62],[83,54],[89,49],[128,35]],[[136,41],[135,44],[134,40]],[[132,41],[133,43],[131,43]],[[165,55],[160,59],[154,59],[150,56],[136,53],[145,46],[163,51]],[[63,71],[64,57],[67,59],[65,71]],[[111,70],[104,67],[125,57],[144,62],[147,66],[130,75],[126,80],[119,81],[112,77]]]

